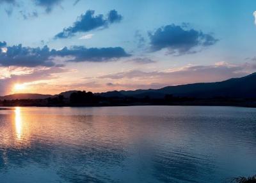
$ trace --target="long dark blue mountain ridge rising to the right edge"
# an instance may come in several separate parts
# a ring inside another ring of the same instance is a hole
[[[109,92],[107,92],[109,93]],[[195,83],[183,84],[178,86],[166,86],[160,89],[119,91],[115,92],[116,96],[124,95],[126,97],[150,97],[163,98],[166,94],[175,97],[196,97],[196,98],[212,98],[212,97],[230,97],[230,98],[256,98],[256,73],[249,76],[232,78],[226,81],[215,83]],[[99,95],[106,95],[100,93]]]

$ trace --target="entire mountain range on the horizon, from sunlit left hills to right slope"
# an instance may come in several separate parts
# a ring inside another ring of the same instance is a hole
[[[13,95],[6,95],[0,97],[0,100],[46,99],[49,97],[56,97],[58,95],[63,95],[65,98],[68,98],[70,94],[73,92],[77,92],[77,90],[62,92],[56,95],[17,93]],[[163,99],[166,94],[173,95],[173,97],[193,97],[198,99],[207,99],[213,97],[244,99],[256,98],[256,72],[248,76],[232,78],[226,81],[214,83],[182,84],[177,86],[166,86],[160,89],[130,91],[121,90],[104,93],[95,93],[95,95],[100,95],[102,97],[150,97],[152,99]]]

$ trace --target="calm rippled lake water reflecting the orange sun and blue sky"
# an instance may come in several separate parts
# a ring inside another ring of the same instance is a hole
[[[256,109],[0,111],[0,182],[223,182],[256,174]]]

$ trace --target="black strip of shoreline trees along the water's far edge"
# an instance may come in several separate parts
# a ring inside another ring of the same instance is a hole
[[[166,94],[163,98],[145,97],[104,97],[99,93],[73,92],[70,97],[56,95],[47,99],[1,100],[0,106],[244,106],[256,107],[256,99],[213,97],[199,99],[195,97],[174,97]]]

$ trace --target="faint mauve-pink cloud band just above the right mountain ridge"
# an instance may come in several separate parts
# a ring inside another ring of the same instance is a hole
[[[99,76],[98,79],[113,81],[126,81],[127,83],[162,83],[165,86],[176,84],[188,84],[198,82],[223,81],[231,77],[241,77],[250,73],[253,66],[230,65],[228,63],[216,63],[215,65],[188,65],[181,68],[173,68],[164,71],[145,72],[141,70],[129,70]]]

